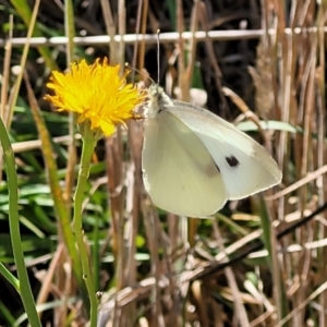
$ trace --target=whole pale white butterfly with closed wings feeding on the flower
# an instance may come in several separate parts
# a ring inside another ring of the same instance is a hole
[[[275,160],[234,125],[203,108],[170,99],[153,84],[144,125],[143,181],[167,211],[207,217],[228,199],[281,180]]]

